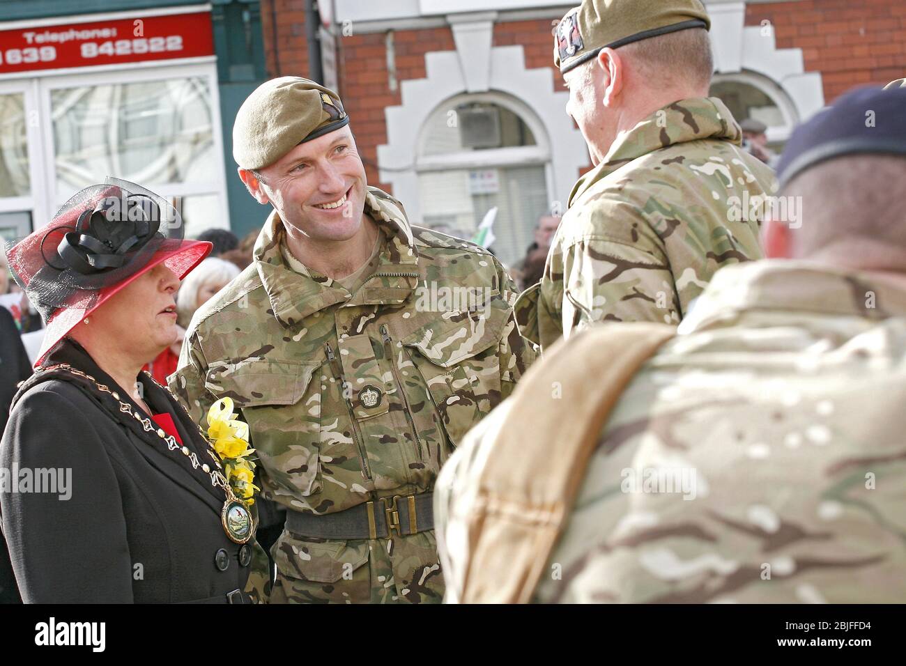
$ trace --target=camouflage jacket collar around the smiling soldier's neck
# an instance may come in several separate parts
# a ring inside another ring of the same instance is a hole
[[[338,303],[350,305],[402,303],[417,285],[419,252],[402,205],[378,188],[365,193],[365,212],[384,231],[380,263],[356,294],[349,294],[326,275],[306,268],[295,271],[284,261],[280,244],[283,220],[273,211],[255,242],[255,268],[261,277],[274,316],[286,327]],[[375,282],[377,281],[377,282]]]

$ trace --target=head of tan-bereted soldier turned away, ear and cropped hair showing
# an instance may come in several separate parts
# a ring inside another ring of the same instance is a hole
[[[583,0],[554,32],[566,112],[599,164],[623,130],[673,101],[707,97],[714,59],[699,0]]]

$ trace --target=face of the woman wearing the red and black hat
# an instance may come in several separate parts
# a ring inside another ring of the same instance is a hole
[[[156,265],[92,313],[85,330],[109,336],[148,362],[178,337],[178,287],[177,276],[166,265]]]

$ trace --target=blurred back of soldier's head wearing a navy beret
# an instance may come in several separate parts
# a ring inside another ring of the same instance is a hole
[[[903,108],[906,88],[857,90],[795,130],[777,175],[801,221],[766,221],[767,256],[906,273]]]

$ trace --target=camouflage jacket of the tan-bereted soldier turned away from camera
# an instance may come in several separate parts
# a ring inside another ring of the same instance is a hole
[[[678,323],[718,268],[760,258],[748,204],[775,178],[741,140],[717,98],[670,104],[618,139],[576,183],[545,275],[516,303],[522,334],[544,348],[592,322]]]

